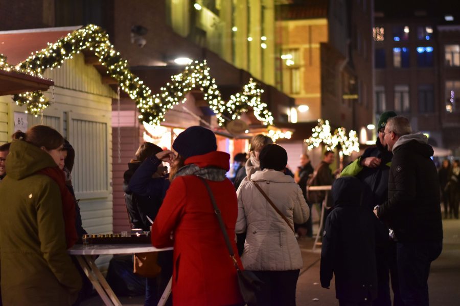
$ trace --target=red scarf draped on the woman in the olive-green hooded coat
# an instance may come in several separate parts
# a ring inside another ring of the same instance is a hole
[[[51,177],[51,179],[53,179],[53,181],[55,181],[59,186],[62,199],[62,214],[64,217],[65,225],[65,241],[67,242],[67,248],[70,248],[78,240],[78,236],[77,228],[75,227],[75,201],[74,197],[72,196],[72,193],[70,193],[70,191],[68,191],[67,189],[67,186],[65,186],[64,171],[62,171],[61,169],[59,169],[58,166],[56,166],[41,169],[37,173]]]

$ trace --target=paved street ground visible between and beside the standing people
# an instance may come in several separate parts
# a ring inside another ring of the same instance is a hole
[[[444,247],[441,256],[431,265],[429,292],[431,306],[457,306],[460,302],[460,220],[443,220]],[[338,305],[334,281],[331,289],[319,285],[320,251],[312,251],[313,240],[299,240],[304,258],[304,269],[297,283],[297,305]],[[143,305],[143,297],[121,297],[123,305]],[[99,297],[82,303],[83,306],[103,305]]]

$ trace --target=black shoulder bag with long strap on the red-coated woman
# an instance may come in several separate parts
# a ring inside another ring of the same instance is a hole
[[[238,263],[235,258],[235,253],[233,252],[232,244],[230,243],[227,231],[225,230],[225,224],[222,220],[222,216],[220,215],[220,210],[217,207],[216,200],[214,199],[211,187],[209,187],[208,183],[202,177],[199,177],[199,179],[203,182],[204,186],[206,186],[206,189],[208,189],[211,202],[213,203],[214,212],[216,213],[216,218],[219,221],[220,230],[222,231],[225,243],[228,248],[228,253],[230,254],[230,257],[233,260],[233,264],[237,269],[238,285],[240,287],[241,296],[243,297],[243,300],[247,303],[248,306],[257,305],[256,292],[260,290],[260,286],[263,284],[263,282],[252,271],[241,270],[238,267]]]

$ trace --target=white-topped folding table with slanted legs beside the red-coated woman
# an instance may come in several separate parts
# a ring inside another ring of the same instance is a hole
[[[68,249],[68,253],[74,255],[86,276],[89,278],[99,296],[106,305],[118,306],[121,305],[118,297],[113,293],[113,290],[107,284],[107,281],[94,262],[93,255],[107,254],[133,254],[172,250],[172,247],[158,249],[151,244],[76,244]],[[158,302],[158,306],[163,306],[171,293],[171,279],[163,293],[162,298]]]

